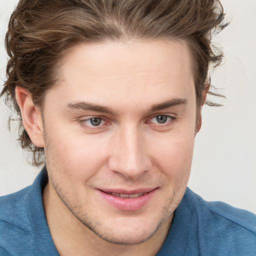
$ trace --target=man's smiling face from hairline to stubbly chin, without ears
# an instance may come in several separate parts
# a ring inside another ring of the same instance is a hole
[[[43,110],[51,196],[105,240],[146,240],[169,224],[189,177],[196,103],[188,47],[80,44],[59,75]]]

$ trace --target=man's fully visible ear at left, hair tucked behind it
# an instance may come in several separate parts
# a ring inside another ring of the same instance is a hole
[[[29,138],[34,145],[44,147],[41,112],[34,106],[30,92],[25,88],[16,86],[15,95],[20,108],[22,122]]]

